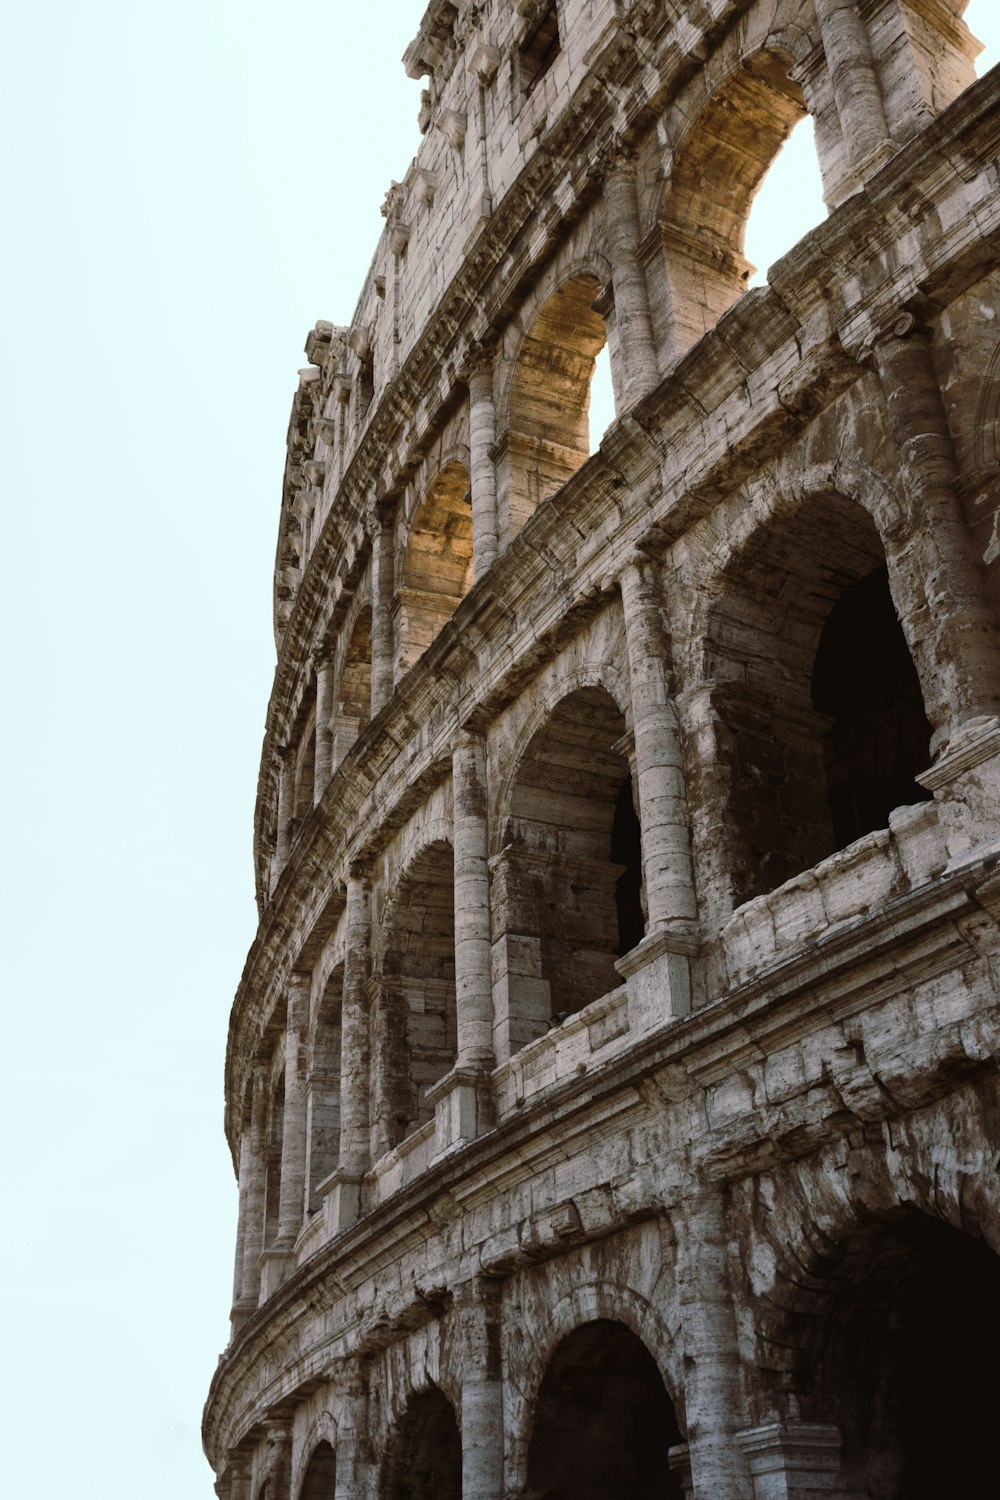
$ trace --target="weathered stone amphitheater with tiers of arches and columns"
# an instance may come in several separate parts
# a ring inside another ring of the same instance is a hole
[[[963,8],[426,9],[423,144],[288,435],[223,1500],[997,1492]],[[748,291],[805,114],[829,218]]]

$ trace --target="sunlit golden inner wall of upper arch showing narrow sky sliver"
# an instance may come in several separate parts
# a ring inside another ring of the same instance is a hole
[[[591,453],[591,380],[607,333],[597,276],[574,276],[549,297],[525,336],[510,393],[498,472],[504,540],[576,474]]]

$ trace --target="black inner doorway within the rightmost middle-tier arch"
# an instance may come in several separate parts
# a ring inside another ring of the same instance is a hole
[[[823,762],[838,848],[885,828],[895,807],[930,798],[916,774],[931,760],[931,724],[885,564],[849,585],[826,616],[813,706],[832,718]]]

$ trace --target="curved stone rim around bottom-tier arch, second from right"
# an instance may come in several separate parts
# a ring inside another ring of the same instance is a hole
[[[550,1310],[544,1324],[535,1330],[529,1346],[526,1346],[526,1362],[523,1364],[517,1382],[517,1406],[510,1437],[510,1478],[514,1491],[520,1485],[528,1485],[534,1496],[546,1494],[547,1490],[537,1491],[531,1484],[529,1450],[532,1428],[538,1412],[540,1396],[546,1374],[552,1370],[553,1359],[559,1348],[567,1344],[580,1329],[612,1324],[627,1330],[631,1338],[648,1352],[663,1383],[666,1400],[676,1422],[676,1432],[670,1432],[672,1443],[684,1438],[684,1392],[675,1390],[669,1374],[664,1372],[666,1352],[672,1347],[673,1336],[657,1308],[634,1288],[609,1281],[588,1281],[567,1292]],[[666,1466],[664,1466],[666,1467]],[[672,1496],[669,1488],[672,1479],[664,1478],[663,1494]],[[681,1496],[681,1490],[676,1490]]]

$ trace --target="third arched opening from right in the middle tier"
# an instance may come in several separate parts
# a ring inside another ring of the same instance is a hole
[[[423,849],[393,897],[376,1018],[379,1146],[397,1144],[433,1110],[427,1089],[454,1065],[454,860],[439,840]]]

